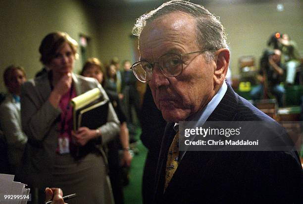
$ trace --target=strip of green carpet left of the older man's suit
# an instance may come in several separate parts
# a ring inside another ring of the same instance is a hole
[[[141,131],[138,130],[137,136],[139,137],[140,134]],[[129,184],[123,189],[125,204],[142,204],[142,176],[148,150],[142,144],[141,140],[138,140],[136,148],[138,148],[139,151],[138,154],[134,155],[132,160],[130,168],[130,181]]]

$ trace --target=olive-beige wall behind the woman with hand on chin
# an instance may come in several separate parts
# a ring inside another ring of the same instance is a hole
[[[5,90],[2,74],[7,66],[24,67],[28,78],[42,68],[38,49],[50,32],[64,31],[77,41],[80,33],[88,35],[91,53],[97,55],[96,19],[81,0],[1,0],[0,28],[0,91]],[[74,71],[81,65],[77,60]]]

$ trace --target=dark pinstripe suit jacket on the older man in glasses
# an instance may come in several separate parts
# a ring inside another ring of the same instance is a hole
[[[207,121],[272,121],[230,86]],[[187,151],[165,193],[167,152],[175,135],[166,126],[154,203],[301,203],[303,171],[295,151]]]

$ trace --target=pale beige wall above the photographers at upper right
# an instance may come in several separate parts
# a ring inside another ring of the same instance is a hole
[[[277,3],[283,3],[284,11],[277,11]],[[278,31],[287,33],[296,41],[303,55],[303,1],[270,1],[267,3],[209,5],[209,11],[220,16],[226,28],[231,49],[232,73],[237,74],[238,59],[253,55],[257,66],[269,36]]]

